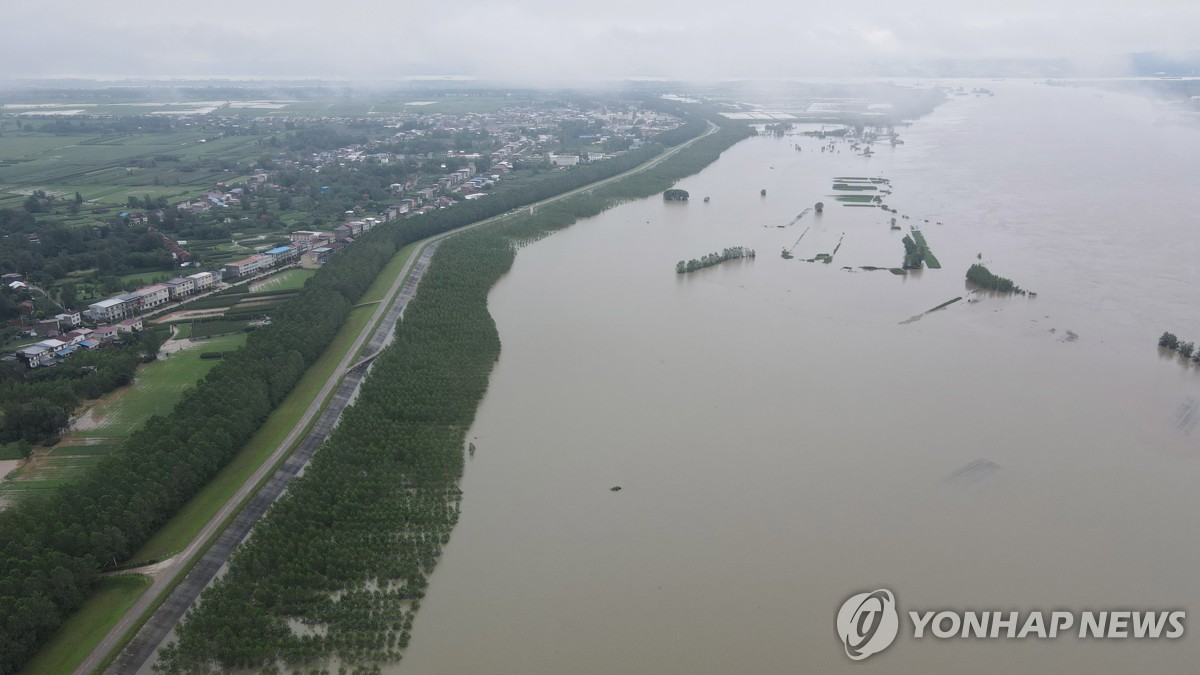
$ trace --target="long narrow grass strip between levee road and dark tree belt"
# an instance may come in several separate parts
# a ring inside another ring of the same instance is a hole
[[[359,299],[360,304],[378,303],[388,293],[396,275],[403,269],[413,253],[413,246],[401,250],[383,269],[374,283]],[[266,418],[257,434],[246,443],[241,453],[221,473],[216,476],[196,497],[192,498],[175,518],[170,519],[128,562],[162,560],[182,550],[188,542],[212,516],[221,510],[233,495],[254,471],[270,456],[271,452],[287,437],[298,424],[300,417],[334,374],[346,351],[350,348],[359,333],[376,311],[374,304],[364,304],[350,312],[349,319],[342,325],[334,342],[317,359],[296,384],[295,389]],[[212,350],[205,350],[212,351]],[[217,363],[217,362],[211,362]]]

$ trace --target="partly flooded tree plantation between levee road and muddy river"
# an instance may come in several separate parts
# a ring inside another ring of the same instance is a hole
[[[722,129],[653,169],[442,244],[355,404],[178,626],[160,670],[398,659],[458,518],[466,434],[499,357],[488,289],[521,245],[654,195],[749,133]]]

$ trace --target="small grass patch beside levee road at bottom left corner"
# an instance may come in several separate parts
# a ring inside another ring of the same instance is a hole
[[[73,671],[149,586],[148,577],[126,574],[101,579],[83,609],[67,619],[22,673],[60,675]]]

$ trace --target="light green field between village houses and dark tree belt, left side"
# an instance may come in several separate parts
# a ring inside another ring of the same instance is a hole
[[[208,341],[143,368],[133,384],[106,396],[88,412],[91,423],[85,423],[72,436],[125,437],[151,416],[167,413],[184,398],[184,390],[204,377],[217,364],[200,359],[202,351],[223,352],[236,350],[246,341],[245,335],[227,335]]]

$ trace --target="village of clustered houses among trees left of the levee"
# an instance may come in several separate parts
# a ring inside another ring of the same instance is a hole
[[[323,123],[344,123],[337,118],[320,118]],[[373,216],[364,216],[362,208],[346,210],[342,222],[329,228],[293,229],[257,239],[268,241],[256,246],[246,257],[227,262],[214,262],[211,269],[182,274],[164,281],[116,293],[91,301],[86,309],[76,311],[62,307],[53,318],[35,317],[31,301],[22,303],[22,317],[17,319],[31,339],[38,341],[23,345],[5,359],[19,359],[28,368],[44,368],[61,363],[77,350],[94,350],[107,344],[120,342],[121,336],[138,333],[144,328],[144,317],[176,307],[192,299],[220,291],[241,280],[271,273],[288,267],[316,269],[325,264],[331,255],[354,243],[373,227],[402,217],[427,214],[436,209],[452,208],[460,202],[485,198],[518,167],[540,166],[551,171],[569,171],[580,165],[600,162],[640,148],[644,141],[679,125],[679,119],[668,114],[644,109],[635,104],[616,108],[600,106],[584,109],[576,104],[551,108],[504,108],[490,113],[463,114],[406,114],[383,121],[396,129],[390,136],[366,144],[352,144],[335,150],[311,153],[302,160],[280,161],[272,169],[256,169],[242,183],[217,183],[211,190],[143,211],[128,210],[119,214],[127,227],[144,227],[161,237],[162,247],[185,271],[200,263],[188,250],[188,241],[174,239],[162,232],[167,210],[196,217],[217,219],[229,222],[239,209],[250,204],[258,192],[272,195],[299,193],[296,186],[277,183],[281,172],[304,174],[330,173],[331,169],[362,165],[389,165],[391,162],[422,161],[439,162],[446,171],[434,177],[410,173],[403,181],[388,186],[385,204]],[[253,123],[276,124],[278,119],[256,118]],[[246,125],[241,117],[222,119],[218,127]],[[570,131],[554,133],[556,130]],[[421,149],[432,138],[454,135],[475,135],[488,139],[491,149],[454,148],[442,153],[402,153],[397,149]],[[565,149],[570,148],[570,150]],[[588,150],[601,148],[610,151]],[[446,168],[448,165],[450,168]],[[457,167],[457,168],[454,168]],[[479,171],[478,167],[484,167]],[[320,186],[320,191],[330,190]],[[245,216],[242,216],[242,220]],[[287,244],[283,244],[283,240]],[[38,244],[37,235],[29,241]],[[211,256],[206,256],[211,257]],[[19,274],[4,276],[5,291],[12,295],[28,288]]]

